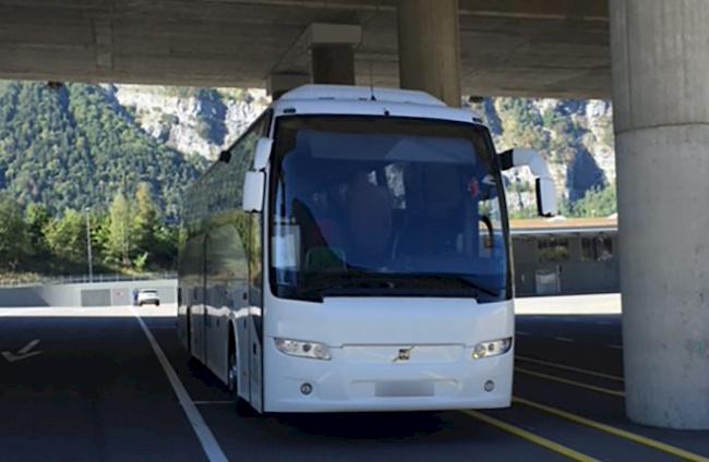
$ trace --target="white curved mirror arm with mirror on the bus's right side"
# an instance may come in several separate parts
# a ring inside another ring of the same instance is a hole
[[[549,166],[534,149],[514,148],[500,154],[500,167],[509,170],[516,167],[529,167],[537,179],[537,209],[542,217],[556,215],[556,189]]]

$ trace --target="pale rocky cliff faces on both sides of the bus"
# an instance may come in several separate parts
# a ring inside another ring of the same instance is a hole
[[[144,131],[183,153],[215,159],[268,105],[257,89],[111,86]],[[565,214],[587,194],[615,182],[613,111],[603,100],[485,98],[472,109],[491,127],[496,148],[532,147],[550,162]],[[513,214],[533,210],[529,172],[507,174]],[[614,198],[611,197],[611,200]],[[603,212],[608,211],[603,208]],[[589,207],[584,207],[588,210]],[[613,210],[614,211],[614,210]],[[585,211],[586,212],[586,211]],[[522,214],[522,215],[525,215]]]

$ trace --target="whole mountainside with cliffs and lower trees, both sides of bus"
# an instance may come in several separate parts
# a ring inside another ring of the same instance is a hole
[[[267,104],[257,89],[0,82],[0,279],[84,271],[87,221],[97,270],[173,269],[187,187]],[[563,215],[615,212],[608,101],[474,106],[498,150],[548,159]],[[534,215],[529,172],[506,177],[512,216]]]

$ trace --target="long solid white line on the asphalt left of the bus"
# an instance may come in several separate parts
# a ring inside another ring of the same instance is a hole
[[[178,400],[180,401],[180,405],[182,406],[182,410],[188,416],[188,421],[190,421],[190,424],[192,425],[194,433],[200,439],[200,443],[202,445],[202,449],[204,450],[204,453],[206,454],[207,459],[211,462],[217,462],[217,461],[227,462],[228,459],[225,455],[224,451],[221,450],[221,447],[219,447],[219,443],[217,442],[217,439],[214,437],[214,434],[212,433],[207,424],[204,422],[204,418],[202,418],[202,414],[200,414],[200,411],[197,411],[197,408],[192,402],[190,394],[184,388],[184,385],[182,385],[180,378],[178,377],[177,373],[172,368],[172,365],[170,365],[170,361],[163,352],[163,349],[158,344],[157,340],[155,340],[155,337],[153,337],[153,332],[151,332],[151,329],[148,329],[148,327],[145,325],[141,316],[132,306],[131,306],[131,311],[133,312],[135,319],[137,319],[137,323],[141,325],[141,329],[143,329],[143,333],[145,333],[145,337],[147,337],[147,340],[151,342],[151,346],[153,346],[153,351],[155,352],[157,360],[163,366],[163,370],[165,370],[165,375],[170,381],[170,385],[172,386],[172,390],[175,390],[175,394],[177,394]]]

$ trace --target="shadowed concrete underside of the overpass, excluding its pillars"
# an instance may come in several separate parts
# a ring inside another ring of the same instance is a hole
[[[358,24],[358,84],[399,84],[396,0],[0,0],[0,78],[260,87]],[[604,0],[460,0],[464,94],[610,97]]]

